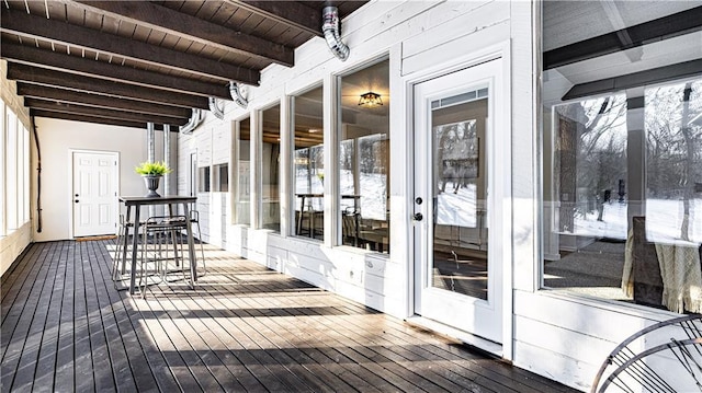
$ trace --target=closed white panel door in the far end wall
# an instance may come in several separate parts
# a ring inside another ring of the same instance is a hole
[[[113,234],[117,211],[117,153],[73,153],[73,236]]]

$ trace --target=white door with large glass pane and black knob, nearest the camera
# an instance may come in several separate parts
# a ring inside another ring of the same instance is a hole
[[[412,200],[415,313],[498,344],[510,257],[500,76],[496,59],[414,85]]]

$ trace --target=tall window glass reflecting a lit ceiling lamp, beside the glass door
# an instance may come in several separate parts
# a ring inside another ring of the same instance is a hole
[[[389,252],[389,69],[382,61],[340,78],[341,243]],[[380,101],[366,105],[362,94]]]

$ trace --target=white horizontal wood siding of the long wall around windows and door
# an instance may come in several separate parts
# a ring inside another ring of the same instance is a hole
[[[509,44],[511,51],[506,56],[509,60],[506,69],[510,70],[507,79],[511,97],[507,104],[511,114],[513,230],[509,261],[512,269],[507,277],[513,285],[508,297],[513,299],[513,307],[506,333],[512,338],[503,344],[505,356],[519,367],[587,390],[615,343],[663,316],[645,308],[539,291],[542,240],[537,163],[542,148],[534,103],[541,55],[534,46],[534,10],[528,1],[371,2],[342,23],[342,39],[351,48],[346,62],[330,54],[324,39],[314,38],[296,50],[295,67],[273,65],[262,72],[261,85],[248,89],[247,109],[226,102],[224,120],[207,115],[193,136],[180,136],[179,172],[183,176],[188,173],[190,153],[195,150],[202,164],[231,162],[234,119],[388,56],[393,96],[389,131],[393,248],[389,256],[292,238],[285,231],[274,234],[231,226],[230,205],[226,203],[230,198],[214,204],[211,196],[201,195],[201,215],[206,210],[210,220],[224,218],[217,222],[220,227],[207,223],[205,227],[212,228],[203,228],[203,231],[216,228],[220,236],[205,239],[380,311],[410,316],[412,141],[408,129],[412,111],[406,82],[417,74],[438,76],[460,68],[487,48]],[[284,103],[283,100],[283,108]],[[330,130],[326,132],[330,135]],[[283,157],[290,158],[287,154]],[[282,173],[292,173],[288,161],[281,162]],[[286,182],[282,183],[283,192],[288,190]],[[234,186],[231,183],[230,188]],[[186,189],[186,183],[179,178],[179,192]]]

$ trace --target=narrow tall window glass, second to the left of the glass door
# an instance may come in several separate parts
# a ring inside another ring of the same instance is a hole
[[[324,132],[322,90],[294,97],[293,234],[324,239]]]

